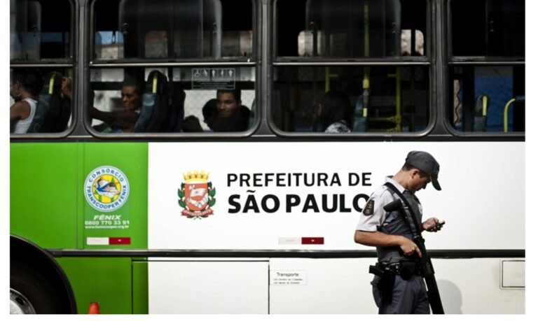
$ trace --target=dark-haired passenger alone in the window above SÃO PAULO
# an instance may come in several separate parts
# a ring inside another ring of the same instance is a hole
[[[317,115],[326,133],[349,133],[353,110],[347,94],[338,90],[326,92],[319,103]]]

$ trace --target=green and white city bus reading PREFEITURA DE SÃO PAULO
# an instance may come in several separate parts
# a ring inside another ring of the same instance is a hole
[[[9,10],[11,313],[375,314],[354,231],[411,150],[445,313],[525,313],[525,1]]]

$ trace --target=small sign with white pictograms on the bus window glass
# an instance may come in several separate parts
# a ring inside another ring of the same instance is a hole
[[[235,89],[234,68],[193,68],[193,90],[233,90]]]

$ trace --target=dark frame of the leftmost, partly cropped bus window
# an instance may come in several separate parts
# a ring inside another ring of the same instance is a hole
[[[13,134],[10,133],[11,141],[25,141],[33,139],[53,139],[53,138],[66,138],[71,135],[78,124],[78,27],[76,27],[75,20],[78,21],[78,13],[80,12],[80,6],[78,0],[65,0],[69,3],[71,10],[71,24],[69,30],[69,46],[71,47],[71,57],[69,58],[58,58],[58,59],[39,59],[39,60],[28,60],[20,61],[18,59],[10,60],[9,67],[10,69],[22,69],[22,68],[36,68],[40,71],[43,69],[71,69],[73,78],[71,83],[71,90],[73,92],[73,97],[71,97],[71,124],[64,130],[57,133],[25,133],[25,134]],[[43,1],[42,3],[49,3],[50,6],[53,5],[50,1]],[[43,75],[45,76],[45,75]]]

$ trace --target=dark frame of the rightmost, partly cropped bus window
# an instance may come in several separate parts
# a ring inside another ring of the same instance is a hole
[[[443,123],[446,130],[455,137],[458,138],[509,138],[509,139],[525,139],[525,131],[460,131],[455,129],[454,125],[450,122],[448,115],[450,110],[450,69],[455,66],[525,66],[525,57],[489,57],[489,56],[455,56],[453,55],[453,41],[452,41],[452,3],[453,0],[443,0],[444,17],[445,22],[442,23],[443,35],[446,36],[445,46],[446,52],[443,53],[446,57],[446,61],[443,62],[443,69],[445,70],[443,82],[443,102],[444,106],[441,115],[443,115]]]

